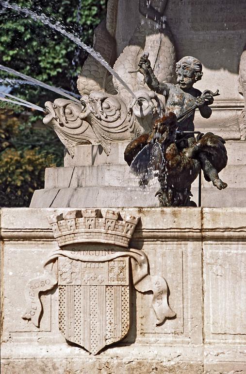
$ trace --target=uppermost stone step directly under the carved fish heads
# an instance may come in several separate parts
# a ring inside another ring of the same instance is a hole
[[[124,150],[128,144],[129,141],[113,143],[109,156],[106,155],[100,144],[77,146],[73,158],[66,153],[64,166],[127,165],[124,160]],[[246,141],[229,140],[226,142],[226,149],[229,165],[245,164]]]

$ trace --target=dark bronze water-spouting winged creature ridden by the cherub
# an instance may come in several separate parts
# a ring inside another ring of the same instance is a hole
[[[203,170],[218,189],[227,187],[218,173],[227,165],[225,140],[212,132],[188,138],[186,147],[176,140],[178,122],[173,112],[155,121],[151,134],[142,134],[127,146],[124,156],[131,171],[147,185],[158,177],[160,206],[196,206],[190,200],[191,184]],[[180,131],[179,131],[180,135]]]

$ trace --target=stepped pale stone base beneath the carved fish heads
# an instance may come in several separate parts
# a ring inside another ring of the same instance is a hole
[[[127,144],[113,143],[109,156],[100,145],[78,146],[73,158],[66,153],[64,167],[46,168],[45,188],[34,192],[30,207],[157,207],[159,183],[139,187],[124,160]],[[226,148],[228,165],[219,175],[228,187],[219,191],[202,177],[202,206],[246,206],[246,142],[229,140]],[[198,178],[192,193],[198,204]]]

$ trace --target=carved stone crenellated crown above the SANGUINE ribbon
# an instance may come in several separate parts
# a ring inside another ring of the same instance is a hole
[[[96,242],[128,247],[138,220],[134,216],[122,220],[114,210],[107,210],[102,217],[99,209],[70,210],[64,217],[63,214],[48,217],[59,246]]]

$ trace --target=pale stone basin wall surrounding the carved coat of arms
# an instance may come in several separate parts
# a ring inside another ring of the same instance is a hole
[[[177,317],[156,326],[152,294],[132,288],[127,337],[96,356],[68,345],[59,331],[57,288],[41,296],[40,328],[23,320],[27,282],[59,249],[47,216],[72,209],[3,208],[2,373],[245,373],[245,209],[119,210],[141,217],[130,245],[145,252],[150,273],[165,277]]]

